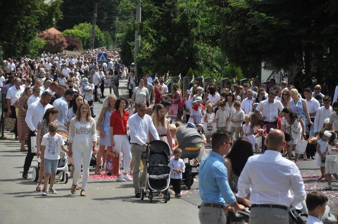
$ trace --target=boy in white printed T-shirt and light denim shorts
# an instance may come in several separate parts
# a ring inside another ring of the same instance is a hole
[[[48,125],[48,131],[49,133],[45,134],[42,137],[42,158],[43,162],[45,164],[45,183],[44,183],[44,189],[46,189],[43,192],[43,196],[48,196],[48,181],[49,176],[50,178],[50,187],[49,191],[52,194],[57,194],[57,192],[54,189],[54,181],[56,177],[56,168],[58,160],[60,159],[60,148],[68,152],[68,149],[64,146],[65,142],[62,139],[62,136],[57,134],[57,124],[51,123]]]

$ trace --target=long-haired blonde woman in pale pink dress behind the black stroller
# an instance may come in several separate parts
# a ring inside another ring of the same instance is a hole
[[[166,142],[171,148],[171,155],[174,152],[172,147],[172,138],[169,131],[169,120],[165,116],[165,109],[162,104],[158,104],[154,110],[152,116],[152,122],[159,134],[160,140]],[[150,141],[154,140],[154,137],[150,135]]]

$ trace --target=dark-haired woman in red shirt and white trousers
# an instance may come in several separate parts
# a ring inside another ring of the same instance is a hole
[[[117,182],[121,181],[132,181],[132,178],[128,175],[128,169],[131,163],[131,151],[130,143],[127,135],[127,121],[129,118],[129,113],[125,109],[128,108],[128,101],[124,97],[120,97],[116,100],[115,111],[110,117],[110,140],[111,145],[115,152],[121,153],[123,151],[123,172],[120,175],[117,173]],[[108,150],[112,150],[112,147],[109,147]],[[115,173],[114,173],[115,174]]]

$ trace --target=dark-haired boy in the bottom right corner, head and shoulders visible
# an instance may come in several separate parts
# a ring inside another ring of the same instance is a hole
[[[327,202],[328,197],[318,191],[308,193],[306,196],[306,206],[309,210],[307,224],[323,224],[319,217],[324,215]]]

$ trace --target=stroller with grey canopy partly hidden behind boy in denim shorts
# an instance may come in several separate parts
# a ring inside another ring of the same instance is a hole
[[[57,124],[58,124],[58,127],[57,127],[56,133],[61,135],[64,142],[66,142],[68,139],[67,128],[64,124],[62,124],[59,121],[57,122]],[[37,161],[38,161],[38,166],[34,166],[33,171],[32,171],[32,178],[33,178],[33,181],[35,182],[39,180],[41,157],[37,158]],[[68,173],[69,169],[68,169],[67,164],[68,164],[67,154],[66,152],[61,150],[60,159],[57,163],[56,175],[58,175],[59,180],[64,181],[65,184],[68,183],[68,176],[69,176],[69,173]],[[49,183],[50,183],[50,179],[49,179]]]

